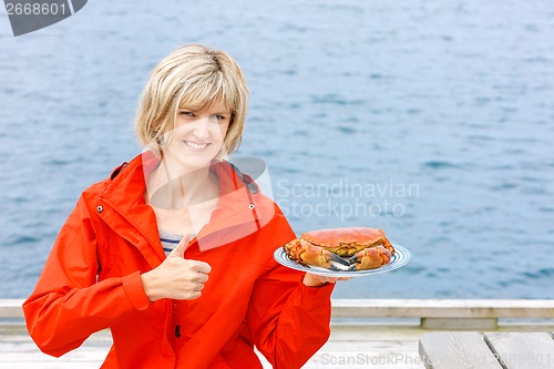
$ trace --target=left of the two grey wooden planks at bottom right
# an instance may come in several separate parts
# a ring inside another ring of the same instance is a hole
[[[419,353],[428,369],[502,369],[482,336],[474,331],[423,335]]]

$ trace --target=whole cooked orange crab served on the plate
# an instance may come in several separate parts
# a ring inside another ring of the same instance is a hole
[[[298,264],[341,271],[379,268],[394,255],[382,229],[365,227],[307,232],[283,248]]]

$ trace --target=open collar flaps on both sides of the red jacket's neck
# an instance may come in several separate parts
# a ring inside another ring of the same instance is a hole
[[[112,173],[100,201],[112,212],[101,217],[122,237],[135,245],[152,266],[165,259],[155,214],[146,204],[146,178],[160,158],[144,152]],[[219,202],[211,222],[196,235],[201,250],[226,245],[266,225],[275,214],[275,204],[260,194],[252,178],[227,161],[212,163],[219,177]]]

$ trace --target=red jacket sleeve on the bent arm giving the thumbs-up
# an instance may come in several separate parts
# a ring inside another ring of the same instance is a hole
[[[96,283],[96,242],[82,196],[23,304],[29,334],[45,353],[59,357],[150,305],[138,271]]]

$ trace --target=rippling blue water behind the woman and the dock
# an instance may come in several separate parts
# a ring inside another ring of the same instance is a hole
[[[336,297],[554,298],[550,0],[90,1],[13,38],[0,14],[0,296],[32,290],[80,192],[140,152],[173,48],[223,48],[296,232],[375,226],[413,254]]]

